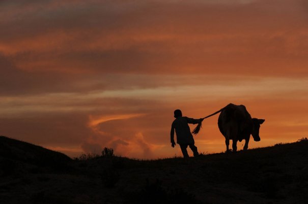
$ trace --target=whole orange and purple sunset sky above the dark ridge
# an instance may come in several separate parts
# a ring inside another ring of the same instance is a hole
[[[308,1],[3,0],[0,71],[0,135],[71,157],[181,156],[173,111],[229,103],[265,119],[249,148],[294,142],[308,135]],[[200,152],[226,150],[217,119]]]

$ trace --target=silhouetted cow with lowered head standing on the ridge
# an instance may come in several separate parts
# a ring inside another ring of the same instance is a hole
[[[220,110],[218,117],[218,128],[226,138],[227,152],[229,152],[229,141],[232,140],[232,149],[237,151],[237,141],[245,140],[243,150],[248,149],[250,134],[256,142],[259,142],[260,125],[264,119],[251,118],[250,114],[243,105],[229,104]]]

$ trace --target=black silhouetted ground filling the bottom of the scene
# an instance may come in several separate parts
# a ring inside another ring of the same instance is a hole
[[[151,161],[72,160],[0,137],[0,203],[308,203],[308,141]]]

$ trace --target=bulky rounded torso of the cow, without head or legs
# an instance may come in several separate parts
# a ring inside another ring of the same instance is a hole
[[[218,117],[218,128],[225,137],[226,131],[233,127],[238,132],[235,137],[242,140],[247,134],[249,135],[252,125],[251,116],[243,105],[229,104]]]

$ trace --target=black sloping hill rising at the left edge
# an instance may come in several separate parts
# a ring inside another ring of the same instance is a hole
[[[63,153],[4,136],[0,136],[0,158],[39,166],[50,166],[71,160]]]

